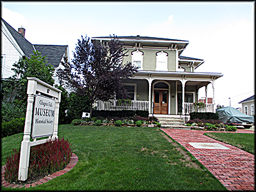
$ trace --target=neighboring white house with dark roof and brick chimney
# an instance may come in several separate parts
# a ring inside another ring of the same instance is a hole
[[[4,19],[1,19],[1,79],[6,79],[14,74],[13,63],[19,61],[22,56],[30,58],[33,51],[41,52],[47,56],[48,64],[53,65],[55,84],[58,84],[56,70],[60,68],[61,61],[68,57],[68,45],[35,45],[25,38],[25,29],[18,31],[12,28]],[[69,61],[69,57],[68,57]]]

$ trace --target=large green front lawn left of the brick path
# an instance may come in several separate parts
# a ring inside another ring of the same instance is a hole
[[[76,166],[45,184],[21,190],[227,190],[156,128],[60,125],[58,136],[76,146]],[[2,139],[2,165],[21,141],[22,134]]]

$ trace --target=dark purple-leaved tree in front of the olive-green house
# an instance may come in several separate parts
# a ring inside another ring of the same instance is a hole
[[[114,99],[116,94],[127,98],[122,81],[134,76],[137,68],[131,62],[122,62],[125,56],[127,51],[115,35],[107,45],[81,36],[76,44],[74,60],[69,63],[66,58],[62,62],[65,68],[58,74],[71,90],[88,96],[92,116],[96,100]]]

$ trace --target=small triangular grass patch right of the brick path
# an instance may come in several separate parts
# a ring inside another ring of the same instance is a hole
[[[255,154],[255,140],[252,133],[205,132],[204,134],[214,140],[234,145],[246,152]]]

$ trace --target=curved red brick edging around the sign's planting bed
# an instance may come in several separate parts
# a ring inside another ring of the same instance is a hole
[[[25,188],[35,187],[35,186],[38,186],[40,184],[44,184],[45,182],[48,182],[49,180],[52,180],[56,177],[59,177],[60,175],[63,175],[64,173],[67,173],[70,170],[72,170],[72,168],[74,168],[74,166],[76,166],[77,162],[78,162],[77,155],[72,154],[72,156],[70,157],[69,163],[67,164],[67,166],[63,170],[52,173],[51,175],[47,175],[44,178],[42,178],[42,179],[40,179],[40,180],[38,180],[38,181],[36,181],[32,184],[26,184]],[[1,186],[3,186],[4,188],[23,188],[24,185],[10,184],[10,182],[7,182],[6,180],[4,180],[4,166],[2,166],[2,169],[1,169]]]

